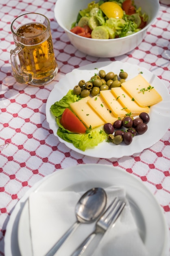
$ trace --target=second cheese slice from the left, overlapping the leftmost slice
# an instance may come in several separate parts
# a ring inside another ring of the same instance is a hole
[[[96,113],[102,119],[104,119],[105,123],[113,124],[114,121],[117,120],[117,118],[113,115],[111,110],[109,110],[107,104],[100,95],[93,97],[92,99],[89,99],[88,103],[91,106],[91,108],[93,108],[96,111]]]

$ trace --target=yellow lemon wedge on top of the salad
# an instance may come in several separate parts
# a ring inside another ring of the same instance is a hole
[[[115,2],[104,2],[100,5],[100,9],[107,16],[107,18],[122,18],[123,10],[120,5]]]

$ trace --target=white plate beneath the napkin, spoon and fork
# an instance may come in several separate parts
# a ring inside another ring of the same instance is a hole
[[[92,187],[100,186],[105,189],[113,185],[124,187],[139,234],[149,255],[168,256],[168,227],[161,207],[146,186],[123,169],[102,164],[78,165],[49,175],[35,190],[80,192]],[[22,256],[31,256],[27,199],[25,202],[19,221],[18,242]]]

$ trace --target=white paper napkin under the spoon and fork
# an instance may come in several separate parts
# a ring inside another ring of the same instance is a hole
[[[118,187],[105,189],[108,204],[114,197],[126,200],[125,191]],[[85,191],[84,191],[85,192]],[[29,215],[33,256],[45,256],[49,249],[76,222],[75,205],[84,193],[73,191],[33,192],[29,196]],[[94,230],[92,224],[81,224],[74,234],[65,241],[55,254],[70,256],[76,247]],[[96,238],[100,238],[100,235]],[[96,241],[91,247],[96,249],[93,256],[148,256],[133,220],[129,204],[117,220],[115,227],[106,232],[96,248]],[[88,250],[83,256],[91,256]]]

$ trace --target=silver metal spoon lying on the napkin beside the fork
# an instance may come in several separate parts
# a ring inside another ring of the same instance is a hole
[[[46,256],[53,256],[68,236],[76,230],[80,223],[95,221],[104,211],[107,203],[107,195],[102,188],[93,188],[85,192],[78,200],[75,208],[77,221],[68,229],[60,240],[50,249]]]

